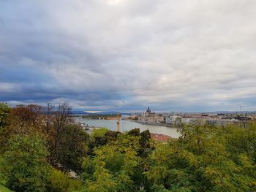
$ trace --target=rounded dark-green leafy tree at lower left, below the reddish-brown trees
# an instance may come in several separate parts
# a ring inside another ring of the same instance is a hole
[[[35,135],[14,135],[4,153],[7,186],[14,191],[46,191],[48,185],[46,142]]]

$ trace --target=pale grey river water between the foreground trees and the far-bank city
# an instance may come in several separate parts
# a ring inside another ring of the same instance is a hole
[[[99,120],[99,119],[75,117],[75,121],[79,123],[83,123],[88,126],[105,127],[110,129],[111,131],[116,131],[116,120]],[[145,131],[146,129],[148,129],[151,133],[165,134],[173,138],[178,138],[181,135],[178,133],[177,128],[141,124],[131,120],[120,120],[121,131],[129,131],[132,128],[140,128],[140,131]]]

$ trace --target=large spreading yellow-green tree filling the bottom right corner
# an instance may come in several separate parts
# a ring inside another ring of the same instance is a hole
[[[183,128],[179,139],[157,145],[149,156],[146,175],[151,190],[254,191],[253,150],[246,150],[252,146],[253,138],[246,137],[248,141],[237,138],[238,135],[244,138],[241,136],[244,131],[252,134],[252,130],[238,127],[227,130],[207,126]],[[232,142],[238,146],[243,144],[244,149],[231,148]]]

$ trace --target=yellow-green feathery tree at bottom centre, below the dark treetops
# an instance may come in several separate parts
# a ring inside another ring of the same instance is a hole
[[[143,174],[143,169],[139,168],[143,164],[140,164],[141,158],[137,153],[140,148],[140,136],[107,131],[101,138],[105,138],[106,142],[94,147],[92,153],[94,158],[83,159],[81,175],[85,180],[86,188],[89,191],[135,191],[138,189],[141,182],[138,177]],[[98,143],[97,140],[94,142]]]

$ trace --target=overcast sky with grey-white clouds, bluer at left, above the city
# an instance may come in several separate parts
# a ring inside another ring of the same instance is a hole
[[[0,101],[256,110],[255,0],[1,0]]]

